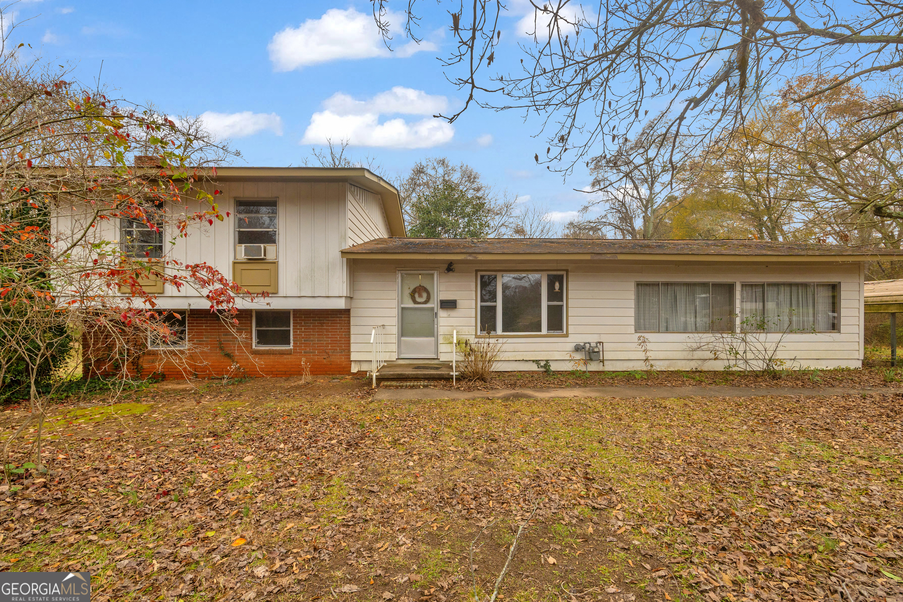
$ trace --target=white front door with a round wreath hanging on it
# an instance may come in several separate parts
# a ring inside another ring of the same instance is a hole
[[[439,357],[435,272],[398,273],[398,357]]]

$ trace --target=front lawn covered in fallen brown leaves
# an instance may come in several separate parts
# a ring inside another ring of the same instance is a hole
[[[116,403],[54,408],[51,473],[0,494],[2,570],[91,570],[98,600],[460,600],[535,509],[502,600],[903,599],[899,396],[410,403],[260,379]]]

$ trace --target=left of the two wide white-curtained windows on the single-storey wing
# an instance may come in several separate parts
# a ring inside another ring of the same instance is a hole
[[[637,282],[637,332],[730,332],[733,282]]]

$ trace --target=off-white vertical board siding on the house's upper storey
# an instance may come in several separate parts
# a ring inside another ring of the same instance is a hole
[[[217,181],[209,187],[219,189],[216,201],[223,221],[192,222],[188,236],[169,243],[171,233],[164,232],[166,254],[184,264],[206,262],[220,273],[232,277],[236,259],[236,199],[278,199],[278,292],[271,295],[272,307],[347,308],[351,296],[350,261],[341,249],[382,236],[390,236],[379,195],[342,181]],[[209,208],[198,200],[185,199],[189,213]],[[183,208],[180,208],[180,213]],[[54,216],[54,227],[65,229],[77,219]],[[117,219],[98,222],[89,236],[95,240],[118,243],[121,236]],[[198,292],[183,287],[177,291],[167,285],[159,296],[164,307],[175,307],[180,299],[198,299]],[[170,300],[170,301],[168,301]],[[175,305],[173,305],[175,303]],[[243,305],[239,302],[239,305]],[[256,306],[256,305],[255,305]],[[250,307],[250,306],[248,306]]]

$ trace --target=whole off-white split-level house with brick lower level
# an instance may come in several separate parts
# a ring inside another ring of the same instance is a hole
[[[590,370],[643,369],[646,356],[658,369],[720,369],[694,343],[750,316],[787,330],[757,336],[781,338],[780,357],[796,366],[862,363],[873,248],[408,238],[397,190],[366,169],[228,167],[215,185],[230,218],[179,239],[172,256],[270,296],[239,301],[245,348],[213,332],[204,299],[155,291],[161,306],[185,310],[179,326],[210,373],[222,368],[221,344],[240,347],[239,363],[254,356],[251,375],[291,375],[301,359],[314,373],[369,370],[375,337],[390,362],[451,361],[453,334],[478,333],[503,343],[500,370],[536,370],[535,360],[571,369],[586,342],[604,348]],[[133,226],[105,236],[148,236]]]

